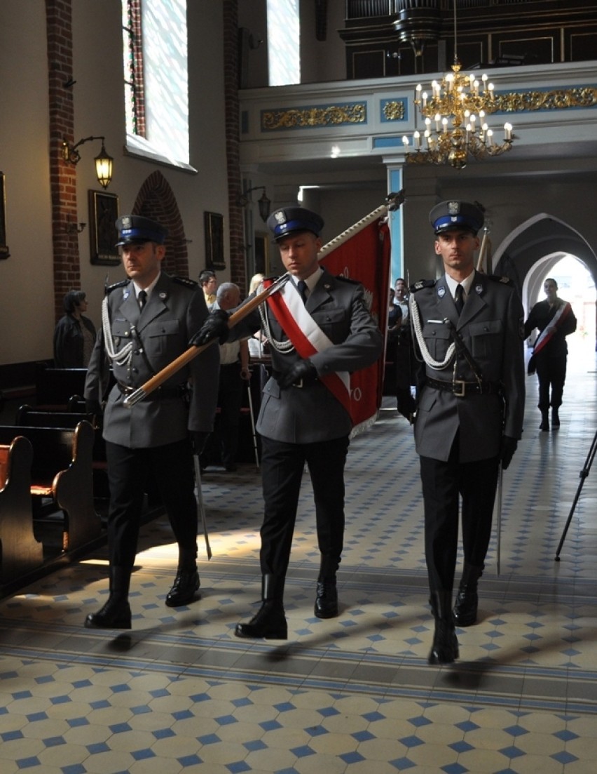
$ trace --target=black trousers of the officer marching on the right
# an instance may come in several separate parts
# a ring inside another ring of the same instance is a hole
[[[459,462],[456,436],[447,462],[420,457],[425,506],[425,560],[430,591],[452,591],[462,497],[464,560],[483,567],[491,539],[499,457]]]

